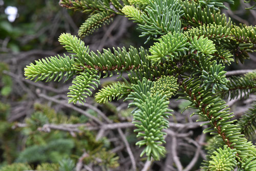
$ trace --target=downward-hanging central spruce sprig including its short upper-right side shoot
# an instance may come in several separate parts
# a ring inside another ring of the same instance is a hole
[[[173,85],[169,85],[169,83],[173,83]],[[158,89],[159,84],[167,91]],[[166,133],[162,132],[162,129],[167,129],[168,121],[166,118],[170,115],[169,112],[172,112],[168,109],[169,101],[166,99],[173,95],[177,89],[177,79],[173,76],[162,77],[156,82],[143,79],[132,87],[133,92],[125,99],[133,100],[129,107],[136,106],[133,113],[133,123],[137,127],[135,132],[138,132],[137,137],[143,137],[143,140],[138,141],[136,145],[146,145],[141,156],[146,153],[148,160],[151,157],[160,160],[160,157],[165,154],[165,148],[160,146],[160,144],[165,143],[163,135]]]

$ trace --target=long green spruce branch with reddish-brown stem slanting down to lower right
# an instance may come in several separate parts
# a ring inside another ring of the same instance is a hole
[[[253,157],[255,146],[239,132],[234,124],[236,120],[230,120],[233,116],[229,113],[225,101],[212,95],[209,90],[205,91],[200,87],[200,82],[199,79],[185,80],[182,87],[185,90],[186,97],[181,98],[189,100],[191,108],[199,109],[199,112],[194,114],[202,116],[200,121],[209,121],[207,123],[209,127],[203,132],[218,135],[228,147],[236,148],[239,161],[247,157]]]

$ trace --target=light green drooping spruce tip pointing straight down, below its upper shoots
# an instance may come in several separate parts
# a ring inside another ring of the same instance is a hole
[[[134,113],[134,124],[138,128],[135,132],[139,132],[137,137],[143,137],[143,140],[140,140],[136,145],[142,146],[146,145],[141,157],[144,153],[148,156],[148,160],[151,157],[156,160],[160,160],[160,156],[163,156],[165,153],[165,148],[159,146],[162,143],[165,143],[163,135],[165,133],[161,132],[162,129],[166,129],[167,120],[164,117],[167,117],[171,112],[168,110],[168,101],[166,101],[166,96],[156,94],[154,96],[143,96],[144,100],[136,100],[138,111]],[[168,123],[168,122],[167,122]]]

